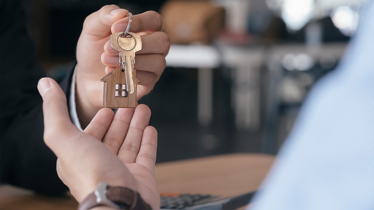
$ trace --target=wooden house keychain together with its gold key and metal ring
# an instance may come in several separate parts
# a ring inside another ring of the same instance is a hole
[[[137,70],[134,69],[135,52],[142,48],[140,35],[129,32],[132,14],[126,31],[110,36],[110,44],[119,51],[119,67],[100,81],[104,82],[103,106],[107,108],[135,108],[137,102]]]

